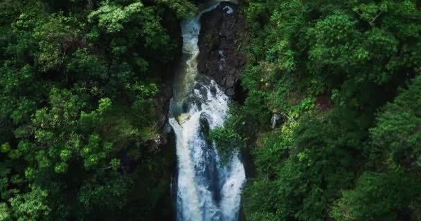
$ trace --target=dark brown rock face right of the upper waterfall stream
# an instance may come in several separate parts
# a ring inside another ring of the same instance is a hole
[[[220,3],[201,16],[199,35],[199,73],[208,75],[234,96],[238,79],[244,70],[245,57],[240,52],[244,39],[244,15],[238,5]]]

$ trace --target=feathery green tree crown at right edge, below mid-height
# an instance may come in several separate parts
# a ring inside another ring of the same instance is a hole
[[[388,161],[393,169],[421,166],[421,77],[415,77],[409,88],[402,90],[395,100],[386,104],[377,117],[377,125],[370,130],[373,147],[370,157]]]

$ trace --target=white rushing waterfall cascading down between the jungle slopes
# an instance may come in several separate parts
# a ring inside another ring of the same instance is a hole
[[[246,178],[238,151],[222,166],[215,144],[205,137],[205,131],[223,126],[230,102],[215,81],[197,70],[199,19],[215,7],[181,23],[183,60],[169,119],[177,139],[178,221],[238,220]]]

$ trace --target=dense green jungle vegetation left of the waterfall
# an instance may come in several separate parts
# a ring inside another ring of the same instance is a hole
[[[154,218],[174,165],[141,145],[160,133],[154,98],[196,12],[187,0],[0,1],[0,220]]]

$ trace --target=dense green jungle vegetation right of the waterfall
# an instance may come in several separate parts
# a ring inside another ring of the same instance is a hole
[[[248,220],[421,220],[421,2],[244,10],[247,99],[218,134],[254,157]]]

